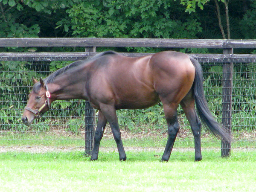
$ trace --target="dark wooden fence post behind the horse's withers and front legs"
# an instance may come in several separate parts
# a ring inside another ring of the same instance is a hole
[[[96,52],[96,47],[85,47],[85,52]],[[95,133],[95,110],[89,102],[85,103],[85,155],[91,155]]]

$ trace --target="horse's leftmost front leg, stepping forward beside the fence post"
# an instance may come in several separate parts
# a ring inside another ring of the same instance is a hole
[[[95,135],[94,135],[94,145],[93,145],[92,156],[90,160],[98,159],[99,145],[100,145],[100,141],[102,140],[107,122],[108,121],[106,117],[103,115],[102,111],[99,110],[98,124],[97,124]]]

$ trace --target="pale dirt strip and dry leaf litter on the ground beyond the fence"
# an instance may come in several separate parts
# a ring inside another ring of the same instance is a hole
[[[1,134],[4,135],[6,133],[10,133],[11,131],[1,131]],[[21,134],[17,132],[11,132],[12,134]],[[29,134],[36,134],[36,132],[29,132]],[[167,138],[168,134],[166,130],[163,129],[141,129],[138,132],[131,132],[129,130],[121,130],[122,140],[129,140],[132,138],[146,139],[149,137],[153,138]],[[237,140],[256,140],[256,133],[234,133],[234,137]],[[84,140],[85,132],[79,131],[79,133],[73,133],[71,131],[65,131],[64,129],[56,129],[42,133],[42,135],[38,138],[39,140],[44,140],[47,136],[55,136],[58,137],[67,137],[68,139],[76,139],[76,140]],[[201,135],[202,138],[207,138],[211,140],[212,135],[209,133],[204,133]],[[113,139],[113,134],[111,128],[107,127],[104,133],[105,138]],[[180,129],[178,138],[189,137],[188,140],[193,140],[192,131],[190,129]],[[124,146],[125,147],[125,146]],[[255,150],[256,148],[233,148],[233,151],[236,150]],[[208,150],[208,149],[202,149]],[[211,149],[212,150],[212,149]],[[214,150],[220,150],[219,148]],[[29,154],[37,154],[37,153],[47,153],[47,152],[72,152],[72,151],[81,151],[84,152],[84,146],[0,146],[0,153],[15,153],[15,152],[25,152]],[[113,147],[101,147],[100,151],[104,152],[117,152],[116,146]],[[125,147],[125,151],[155,151],[155,152],[163,152],[164,147]],[[194,151],[193,146],[191,148],[174,148],[173,151]]]

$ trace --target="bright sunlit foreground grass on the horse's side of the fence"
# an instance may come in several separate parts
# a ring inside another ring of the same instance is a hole
[[[256,151],[203,155],[194,162],[192,151],[175,152],[161,163],[154,152],[128,153],[126,162],[116,153],[100,153],[93,162],[81,152],[0,154],[0,191],[256,191]]]

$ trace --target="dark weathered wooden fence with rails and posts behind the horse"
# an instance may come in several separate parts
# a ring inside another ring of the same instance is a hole
[[[161,47],[222,49],[223,54],[189,54],[200,62],[224,63],[222,79],[222,124],[231,134],[233,62],[256,63],[256,54],[233,54],[236,48],[256,48],[256,40],[222,39],[148,39],[148,38],[0,38],[0,47],[84,47],[84,52],[0,52],[0,61],[75,61],[96,55],[96,47]],[[142,56],[150,53],[120,53]],[[93,110],[87,103],[85,151],[92,149],[95,122]],[[88,123],[90,122],[90,123]],[[222,141],[221,155],[229,156],[230,141]]]

